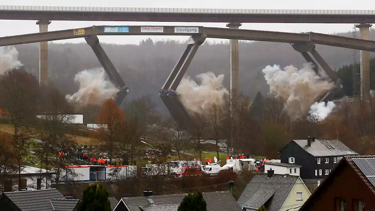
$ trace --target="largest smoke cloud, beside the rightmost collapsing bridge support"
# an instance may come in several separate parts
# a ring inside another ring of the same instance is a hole
[[[310,111],[310,106],[317,97],[333,88],[333,82],[323,80],[312,69],[311,63],[303,64],[303,68],[287,66],[267,66],[262,70],[270,93],[285,102],[285,109],[293,120]]]

